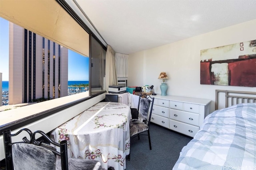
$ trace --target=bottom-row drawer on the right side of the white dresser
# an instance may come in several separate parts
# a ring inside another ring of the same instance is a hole
[[[194,137],[199,127],[170,119],[170,129]]]

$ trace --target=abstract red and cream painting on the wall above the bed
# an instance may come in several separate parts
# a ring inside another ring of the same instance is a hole
[[[256,40],[200,51],[200,84],[256,87]]]

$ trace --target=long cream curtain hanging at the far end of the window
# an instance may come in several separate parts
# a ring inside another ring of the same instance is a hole
[[[115,61],[115,51],[110,45],[107,47],[106,53],[106,90],[108,92],[108,86],[117,85],[116,76],[116,61]]]

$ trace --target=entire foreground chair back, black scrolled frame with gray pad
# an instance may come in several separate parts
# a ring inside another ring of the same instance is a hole
[[[23,141],[12,143],[12,137],[17,136],[23,131],[28,133],[30,140],[28,140],[27,137],[23,137]],[[56,151],[54,147],[43,143],[43,140],[37,141],[35,139],[36,133],[42,135],[48,143],[60,147],[60,152]],[[21,129],[15,134],[11,134],[10,130],[6,130],[3,132],[3,139],[6,169],[8,170],[55,170],[56,155],[60,156],[62,170],[68,170],[66,140],[56,143],[44,132],[35,131],[32,133],[32,131],[27,128]]]

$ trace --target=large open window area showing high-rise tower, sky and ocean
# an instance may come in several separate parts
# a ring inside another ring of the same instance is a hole
[[[42,102],[89,90],[89,57],[3,18],[0,22],[4,105]]]

